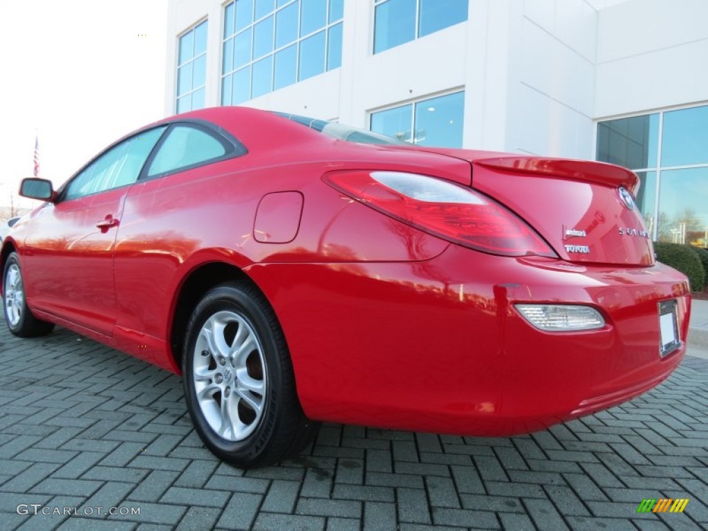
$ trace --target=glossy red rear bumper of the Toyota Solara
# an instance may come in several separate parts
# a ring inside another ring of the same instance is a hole
[[[665,265],[623,270],[450,246],[407,263],[249,268],[285,331],[308,416],[463,435],[514,435],[620,404],[685,353],[690,295]],[[658,302],[682,345],[659,355]],[[607,325],[549,333],[517,302],[590,304]]]

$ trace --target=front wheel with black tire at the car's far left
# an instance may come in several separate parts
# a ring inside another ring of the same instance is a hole
[[[13,334],[21,338],[32,338],[46,336],[54,330],[53,323],[37,319],[27,305],[17,253],[11,253],[5,262],[2,292],[5,322]]]

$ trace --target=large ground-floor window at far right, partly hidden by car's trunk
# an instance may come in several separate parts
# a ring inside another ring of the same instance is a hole
[[[708,105],[598,123],[598,160],[639,175],[636,197],[658,241],[708,246]]]

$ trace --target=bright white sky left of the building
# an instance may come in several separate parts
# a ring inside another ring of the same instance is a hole
[[[167,0],[0,0],[0,207],[164,117]]]

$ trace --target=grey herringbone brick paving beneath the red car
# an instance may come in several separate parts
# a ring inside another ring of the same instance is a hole
[[[636,513],[643,498],[690,501]],[[202,447],[178,377],[62,329],[0,326],[0,530],[698,530],[707,506],[708,360],[525,437],[330,424],[299,457],[244,473]],[[65,507],[80,515],[41,514]]]

